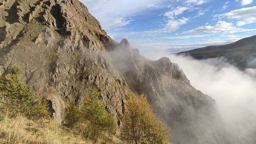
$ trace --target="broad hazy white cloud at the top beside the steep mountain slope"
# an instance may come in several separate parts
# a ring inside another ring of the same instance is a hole
[[[95,16],[102,28],[116,28],[111,26],[113,21],[120,22],[120,18],[129,18],[134,14],[139,14],[146,10],[150,4],[160,4],[164,0],[80,0],[89,9],[90,13]],[[123,20],[116,26],[129,24],[131,21]],[[111,26],[111,27],[110,27]]]

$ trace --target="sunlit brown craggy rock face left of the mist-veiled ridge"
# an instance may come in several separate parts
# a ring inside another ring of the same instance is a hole
[[[6,0],[0,8],[0,74],[16,64],[22,78],[50,100],[57,123],[71,99],[100,90],[116,116],[132,92],[111,63],[101,40],[114,41],[78,0]],[[3,70],[2,70],[3,69]]]

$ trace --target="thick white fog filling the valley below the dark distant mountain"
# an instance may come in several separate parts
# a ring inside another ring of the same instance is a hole
[[[151,60],[166,56],[177,63],[192,86],[216,100],[228,132],[240,143],[256,143],[256,69],[241,71],[225,58],[195,60],[164,51],[141,53]],[[254,64],[255,59],[248,61],[249,67]]]

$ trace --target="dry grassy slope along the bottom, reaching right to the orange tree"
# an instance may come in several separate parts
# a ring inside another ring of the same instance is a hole
[[[84,138],[86,137],[86,138]],[[52,120],[37,122],[24,116],[0,116],[0,144],[119,144],[116,136],[92,132],[90,126],[78,124],[74,129],[58,126]]]

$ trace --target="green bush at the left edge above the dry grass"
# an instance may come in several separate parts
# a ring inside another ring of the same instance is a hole
[[[20,80],[21,70],[10,66],[8,73],[0,77],[0,110],[10,117],[23,114],[31,119],[48,117],[46,102],[36,102],[32,88]]]

